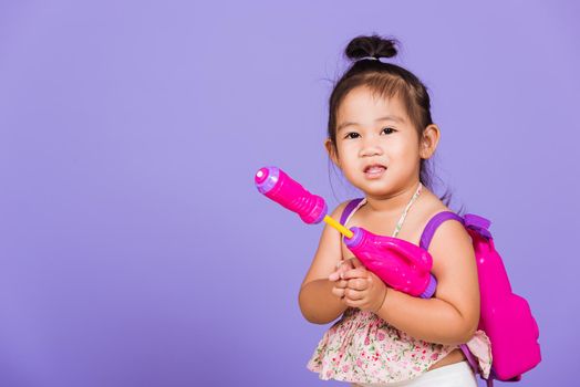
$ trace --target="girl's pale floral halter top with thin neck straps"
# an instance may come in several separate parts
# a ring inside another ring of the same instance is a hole
[[[411,205],[421,192],[421,187],[420,184],[393,237],[401,230]],[[344,224],[364,202],[365,200],[359,203]],[[318,373],[319,377],[325,380],[390,384],[418,377],[458,347],[414,338],[371,311],[349,307],[324,333],[307,368]],[[491,351],[486,334],[477,331],[467,343],[467,347],[477,359],[481,376],[487,377],[491,368]]]

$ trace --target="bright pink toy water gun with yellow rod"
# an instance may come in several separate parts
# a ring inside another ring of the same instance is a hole
[[[426,250],[359,227],[346,229],[327,213],[323,198],[310,194],[277,167],[258,170],[255,182],[261,194],[298,213],[304,222],[313,224],[324,221],[336,229],[345,237],[344,243],[354,257],[387,285],[423,299],[435,293],[437,281],[431,274],[433,259]]]

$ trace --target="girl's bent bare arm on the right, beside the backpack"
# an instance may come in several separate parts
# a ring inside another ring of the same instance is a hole
[[[429,245],[437,291],[429,300],[389,289],[376,314],[431,343],[468,342],[479,322],[479,284],[472,239],[457,221],[439,226]]]

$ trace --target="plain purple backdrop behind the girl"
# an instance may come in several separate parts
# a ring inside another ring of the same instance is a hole
[[[493,220],[531,304],[543,360],[520,385],[574,384],[579,11],[0,2],[0,385],[343,385],[305,368],[330,326],[298,306],[321,226],[252,177],[278,165],[332,208],[356,195],[322,142],[344,46],[372,32],[402,41],[452,207]]]

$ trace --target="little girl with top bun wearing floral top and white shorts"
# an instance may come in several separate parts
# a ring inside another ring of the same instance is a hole
[[[441,134],[422,82],[379,60],[395,56],[395,43],[373,35],[346,46],[355,62],[331,94],[325,147],[364,198],[340,205],[332,217],[420,245],[429,219],[449,210],[429,190],[426,165]],[[445,221],[428,252],[437,290],[432,299],[414,297],[367,271],[327,226],[299,303],[311,323],[341,318],[325,332],[308,368],[351,386],[477,386],[459,348],[466,344],[487,377],[490,344],[476,331],[479,287],[472,240],[462,223]]]

